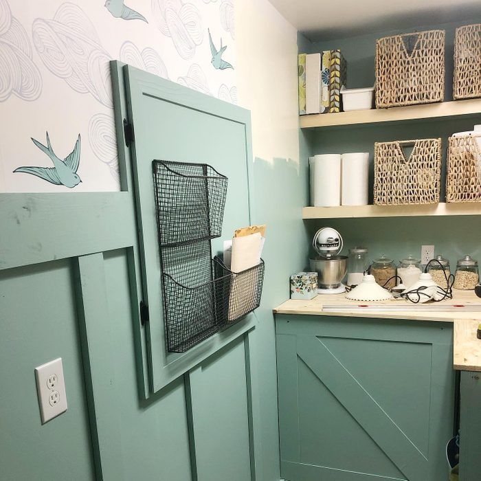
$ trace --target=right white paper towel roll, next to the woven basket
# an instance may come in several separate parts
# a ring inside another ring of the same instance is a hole
[[[342,154],[342,205],[367,205],[369,153]]]

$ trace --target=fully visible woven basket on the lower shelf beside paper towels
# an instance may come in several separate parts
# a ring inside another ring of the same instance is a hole
[[[406,157],[404,148],[412,146]],[[439,202],[441,139],[396,140],[374,144],[374,203]]]

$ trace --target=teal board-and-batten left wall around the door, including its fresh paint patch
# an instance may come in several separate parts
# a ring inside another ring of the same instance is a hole
[[[12,267],[0,270],[2,481],[250,481],[253,460],[257,480],[278,481],[271,309],[302,263],[307,170],[285,159],[251,167],[252,220],[268,225],[258,325],[147,400],[138,386],[130,164],[124,192],[0,196],[0,266]],[[58,356],[69,409],[42,426],[33,370]]]

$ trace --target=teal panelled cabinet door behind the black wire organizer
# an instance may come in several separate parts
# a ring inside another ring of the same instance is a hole
[[[127,108],[118,109],[118,124],[122,124],[124,115],[135,133],[134,142],[125,150],[132,158],[140,231],[141,295],[149,307],[146,324],[149,381],[156,392],[249,331],[256,324],[256,317],[247,315],[186,353],[166,351],[152,162],[157,159],[209,164],[229,179],[222,236],[212,240],[213,254],[220,253],[223,239],[232,238],[234,230],[251,223],[250,114],[233,104],[128,65],[113,63],[113,68],[118,69],[120,90],[122,78],[125,80]]]

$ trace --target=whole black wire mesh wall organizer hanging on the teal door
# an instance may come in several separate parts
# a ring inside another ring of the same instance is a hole
[[[232,272],[212,258],[227,177],[207,164],[153,161],[166,344],[185,353],[260,305],[265,265]]]

